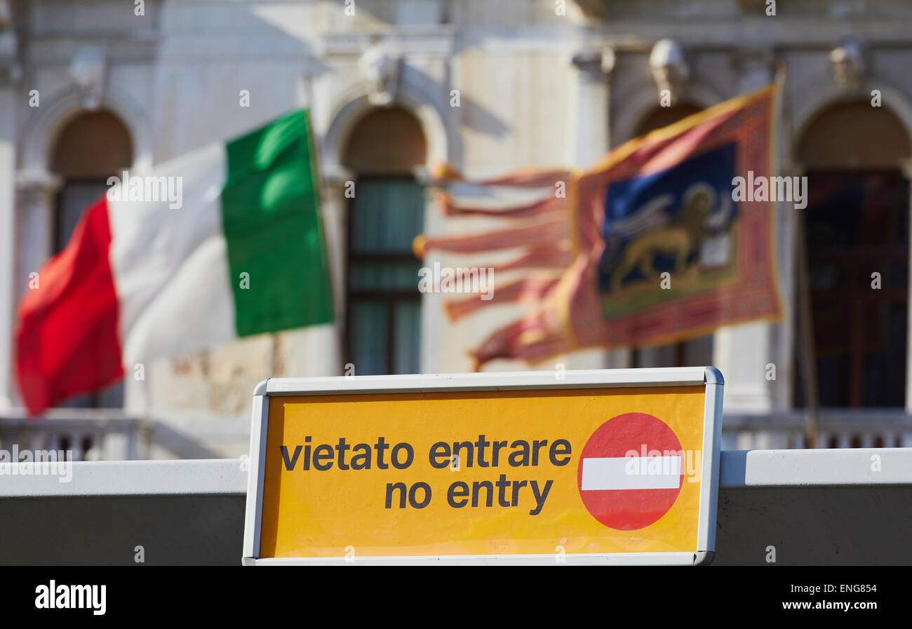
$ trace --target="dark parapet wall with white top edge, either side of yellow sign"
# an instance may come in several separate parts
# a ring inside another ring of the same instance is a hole
[[[0,476],[0,565],[240,565],[244,459],[68,465]],[[912,564],[912,449],[723,451],[720,471],[713,564]]]

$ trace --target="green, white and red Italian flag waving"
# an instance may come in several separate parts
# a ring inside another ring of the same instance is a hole
[[[109,182],[19,304],[29,413],[151,358],[332,321],[305,110]]]

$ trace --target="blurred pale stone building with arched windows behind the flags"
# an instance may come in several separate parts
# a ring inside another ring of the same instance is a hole
[[[819,444],[912,446],[910,28],[903,0],[0,0],[0,439],[86,458],[238,456],[266,376],[470,370],[466,351],[524,307],[452,324],[440,294],[419,293],[415,235],[497,226],[440,218],[432,160],[476,176],[585,167],[780,78],[780,170],[810,185]],[[107,178],[295,107],[314,116],[337,323],[156,361],[26,422],[15,306]],[[724,448],[801,447],[795,212],[779,214],[782,324],[534,368],[711,364]]]

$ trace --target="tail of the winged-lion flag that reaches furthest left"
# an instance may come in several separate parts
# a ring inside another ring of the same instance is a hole
[[[513,249],[525,245],[544,245],[565,239],[570,232],[570,223],[565,218],[556,221],[539,222],[528,227],[516,227],[498,232],[473,233],[462,236],[419,235],[412,242],[412,250],[423,258],[431,250],[454,253],[480,253]]]

